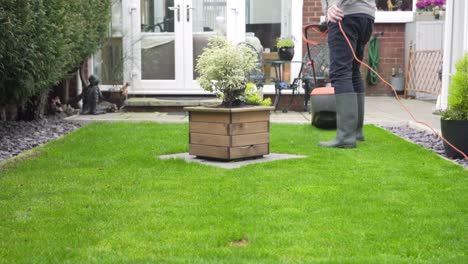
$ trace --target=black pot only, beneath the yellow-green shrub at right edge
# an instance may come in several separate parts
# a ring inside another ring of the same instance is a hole
[[[463,153],[468,154],[468,120],[440,120],[442,136]],[[445,154],[449,158],[463,156],[444,142]]]

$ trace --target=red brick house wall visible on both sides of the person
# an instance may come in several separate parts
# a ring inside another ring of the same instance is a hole
[[[303,24],[318,23],[323,15],[320,0],[304,0]],[[379,73],[389,81],[392,68],[405,64],[405,24],[375,24],[374,32],[384,32],[380,40]],[[303,44],[305,51],[305,43]],[[367,55],[365,58],[367,62]],[[365,77],[366,70],[362,70]],[[365,79],[365,78],[364,78]],[[390,88],[382,82],[367,87],[368,95],[390,95]]]

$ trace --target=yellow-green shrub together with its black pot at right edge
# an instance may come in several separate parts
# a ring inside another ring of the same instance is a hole
[[[442,136],[452,145],[468,154],[468,53],[455,65],[449,89],[448,107],[442,112]],[[450,158],[462,158],[444,142],[445,153]]]

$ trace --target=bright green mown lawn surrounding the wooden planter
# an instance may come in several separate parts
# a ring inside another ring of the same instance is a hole
[[[234,170],[159,160],[187,124],[92,124],[0,165],[0,263],[467,263],[468,171],[366,126],[271,127]]]

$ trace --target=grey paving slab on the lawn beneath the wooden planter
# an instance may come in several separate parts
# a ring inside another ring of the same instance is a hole
[[[158,156],[158,158],[162,160],[182,159],[182,160],[185,160],[186,162],[196,162],[196,163],[200,163],[204,165],[215,166],[215,167],[222,168],[222,169],[237,169],[242,166],[247,166],[251,164],[272,162],[272,161],[285,160],[285,159],[300,159],[300,158],[306,158],[306,157],[307,156],[304,156],[304,155],[270,153],[268,155],[263,155],[263,157],[261,158],[255,158],[255,159],[246,159],[246,160],[239,160],[239,161],[218,161],[218,160],[197,158],[196,156],[190,155],[187,152]]]

